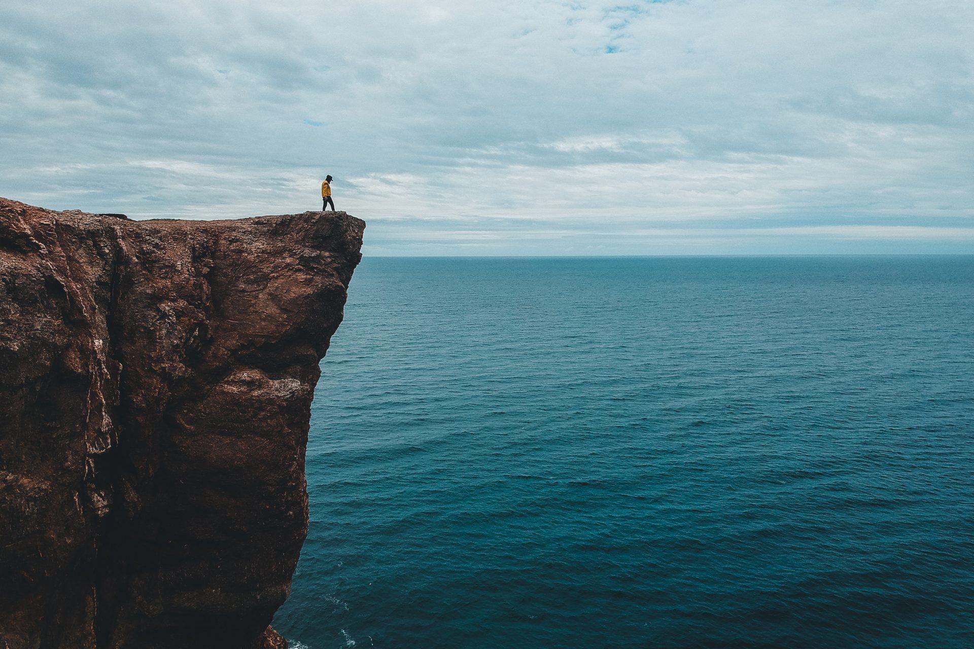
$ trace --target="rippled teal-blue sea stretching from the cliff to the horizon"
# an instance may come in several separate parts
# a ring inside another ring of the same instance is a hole
[[[292,647],[974,647],[974,257],[365,259]]]

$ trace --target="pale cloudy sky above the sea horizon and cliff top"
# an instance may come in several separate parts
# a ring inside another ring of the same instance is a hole
[[[0,196],[367,255],[974,253],[969,0],[5,0]]]

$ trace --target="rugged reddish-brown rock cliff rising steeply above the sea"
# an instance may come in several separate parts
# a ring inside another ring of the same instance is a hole
[[[0,199],[0,647],[283,647],[364,224]]]

